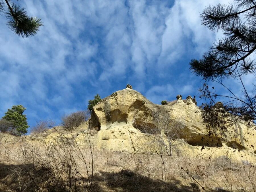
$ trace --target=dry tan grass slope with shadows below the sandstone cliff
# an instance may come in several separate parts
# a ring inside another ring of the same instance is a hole
[[[72,137],[40,146],[0,141],[0,155],[0,191],[255,191],[255,166],[226,157],[111,152]]]

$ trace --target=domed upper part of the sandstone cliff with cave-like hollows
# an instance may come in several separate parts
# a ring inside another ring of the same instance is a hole
[[[135,121],[151,122],[150,111],[155,106],[139,92],[126,88],[94,106],[89,127],[107,130],[110,127],[132,126]]]

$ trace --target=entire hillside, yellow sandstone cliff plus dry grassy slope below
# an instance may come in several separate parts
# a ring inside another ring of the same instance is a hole
[[[255,191],[255,129],[212,134],[202,113],[191,96],[157,105],[125,88],[73,130],[0,133],[0,190]]]

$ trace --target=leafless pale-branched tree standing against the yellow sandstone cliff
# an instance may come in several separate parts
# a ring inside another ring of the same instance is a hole
[[[139,129],[153,137],[153,142],[157,142],[161,146],[164,146],[168,156],[172,156],[172,149],[177,142],[183,136],[183,129],[185,123],[179,117],[172,118],[164,107],[152,111],[155,126],[142,123]]]

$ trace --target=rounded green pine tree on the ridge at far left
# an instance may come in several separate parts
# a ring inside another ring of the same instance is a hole
[[[11,109],[8,109],[2,119],[13,123],[18,134],[24,135],[28,132],[28,122],[26,115],[23,112],[26,110],[22,105],[14,105]]]

